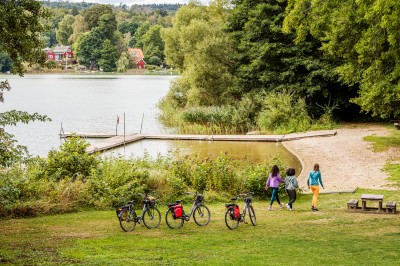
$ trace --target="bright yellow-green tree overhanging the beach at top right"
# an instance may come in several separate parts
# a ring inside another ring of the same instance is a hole
[[[335,58],[340,77],[359,85],[353,101],[382,118],[400,116],[400,2],[289,0],[284,22],[296,41],[309,35]]]

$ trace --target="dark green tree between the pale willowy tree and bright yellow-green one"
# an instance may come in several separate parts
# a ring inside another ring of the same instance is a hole
[[[294,43],[295,34],[282,32],[286,0],[233,2],[229,31],[238,48],[234,73],[242,92],[293,92],[306,99],[313,115],[322,114],[318,105],[348,103],[350,92],[339,81],[336,62],[319,50],[320,41],[307,36]]]

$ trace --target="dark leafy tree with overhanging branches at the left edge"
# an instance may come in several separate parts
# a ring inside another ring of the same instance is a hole
[[[34,0],[2,1],[0,5],[0,53],[6,53],[13,61],[11,71],[24,74],[23,62],[44,63],[41,52],[40,34],[46,30],[41,23],[48,13]],[[18,23],[17,23],[18,22]],[[0,81],[0,103],[4,101],[4,91],[11,89],[8,81]],[[46,121],[46,116],[37,113],[28,114],[11,110],[0,113],[0,165],[8,166],[28,154],[26,147],[18,145],[12,134],[4,130],[5,126],[30,121]]]

